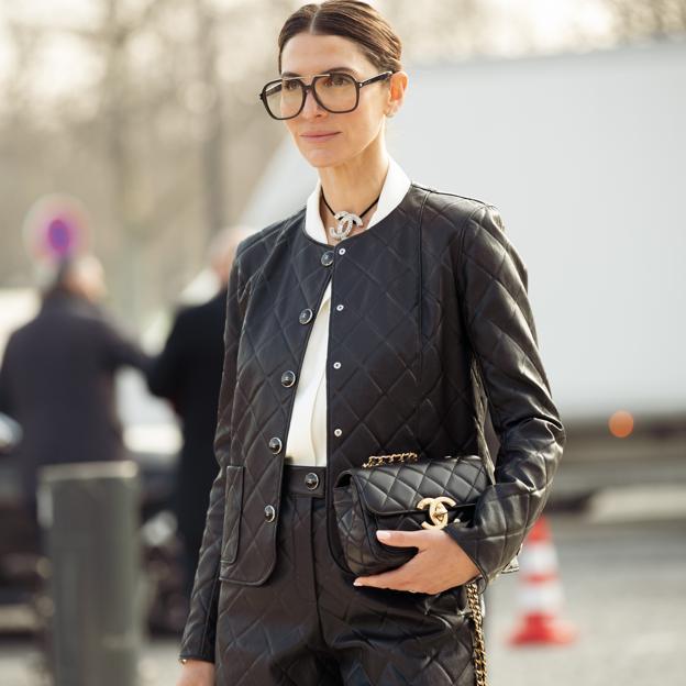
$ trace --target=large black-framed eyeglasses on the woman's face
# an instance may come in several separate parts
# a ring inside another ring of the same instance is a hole
[[[381,71],[364,81],[343,71],[318,74],[307,85],[298,76],[287,76],[265,85],[259,93],[265,109],[274,119],[292,119],[305,108],[308,90],[317,103],[327,112],[343,114],[352,112],[359,104],[359,89],[369,84],[386,80],[392,71]]]

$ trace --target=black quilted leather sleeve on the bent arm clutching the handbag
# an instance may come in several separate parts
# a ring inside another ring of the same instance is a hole
[[[517,555],[550,496],[565,431],[539,353],[527,268],[497,208],[468,218],[456,272],[463,318],[500,441],[474,521],[446,532],[480,571],[479,593]]]

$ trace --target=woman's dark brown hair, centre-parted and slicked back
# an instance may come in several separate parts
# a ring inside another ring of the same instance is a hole
[[[402,68],[402,43],[384,16],[366,2],[327,0],[310,2],[295,11],[285,22],[278,37],[278,68],[281,53],[290,38],[299,33],[339,35],[359,45],[369,62],[380,71]]]

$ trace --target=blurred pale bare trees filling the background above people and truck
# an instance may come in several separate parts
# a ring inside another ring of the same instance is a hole
[[[301,2],[71,1],[95,3],[95,19],[46,23],[49,14],[22,3],[0,12],[11,56],[0,82],[0,284],[31,281],[19,230],[27,208],[45,192],[70,192],[93,215],[114,303],[141,324],[195,275],[211,233],[240,217],[285,135],[257,92],[276,73],[279,27]],[[542,49],[518,3],[375,4],[402,36],[408,65],[505,54],[508,22],[520,54]],[[604,47],[686,32],[686,0],[584,5],[608,18]],[[560,49],[593,47],[580,23],[573,29]],[[64,49],[75,57],[57,68]]]

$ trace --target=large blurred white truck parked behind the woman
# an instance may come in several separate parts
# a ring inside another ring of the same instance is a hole
[[[529,268],[569,434],[553,498],[686,482],[686,42],[408,73],[390,153],[418,182],[496,204]],[[314,180],[284,141],[242,223],[297,210]]]

